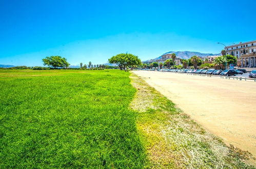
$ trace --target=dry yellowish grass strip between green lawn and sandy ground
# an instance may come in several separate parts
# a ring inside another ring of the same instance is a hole
[[[140,133],[150,168],[254,168],[251,157],[206,132],[174,103],[131,74],[137,89],[130,107],[138,112]]]

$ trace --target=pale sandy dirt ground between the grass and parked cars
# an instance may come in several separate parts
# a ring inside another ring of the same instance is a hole
[[[170,72],[133,73],[206,130],[256,157],[256,82]]]

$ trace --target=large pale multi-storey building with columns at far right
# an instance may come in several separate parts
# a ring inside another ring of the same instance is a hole
[[[225,52],[238,58],[238,66],[256,68],[256,40],[227,46]]]

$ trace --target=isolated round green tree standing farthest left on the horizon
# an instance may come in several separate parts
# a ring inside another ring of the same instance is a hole
[[[65,57],[61,56],[47,56],[46,58],[42,59],[44,62],[44,66],[49,66],[53,67],[54,69],[56,68],[63,68],[69,67],[69,63],[67,62],[67,59]]]

